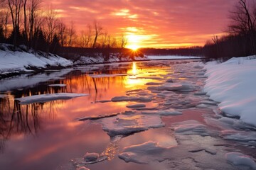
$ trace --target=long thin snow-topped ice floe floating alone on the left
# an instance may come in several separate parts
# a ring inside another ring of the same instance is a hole
[[[88,96],[88,94],[70,94],[70,93],[58,93],[58,94],[40,94],[34,96],[26,96],[22,98],[15,98],[15,100],[20,101],[21,105],[31,104],[31,103],[44,103],[47,101],[55,100],[68,100],[70,98]]]

